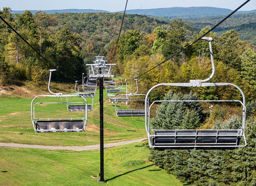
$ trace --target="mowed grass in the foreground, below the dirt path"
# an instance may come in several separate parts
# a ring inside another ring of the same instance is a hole
[[[183,185],[148,160],[146,142],[104,150],[108,185]],[[97,182],[99,151],[0,148],[0,185],[106,185]]]

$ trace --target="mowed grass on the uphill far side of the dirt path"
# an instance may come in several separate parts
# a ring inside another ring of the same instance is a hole
[[[88,112],[85,132],[71,133],[35,133],[31,122],[30,103],[28,99],[17,97],[0,97],[0,142],[41,144],[50,146],[86,146],[99,144],[99,91],[94,97],[93,111]],[[82,99],[71,98],[70,101]],[[92,104],[92,99],[88,104]],[[60,97],[37,99],[37,102],[66,102]],[[84,112],[68,112],[65,104],[37,105],[36,117],[83,117]],[[131,139],[145,138],[144,117],[117,117],[114,104],[107,102],[104,90],[104,142],[114,143]]]

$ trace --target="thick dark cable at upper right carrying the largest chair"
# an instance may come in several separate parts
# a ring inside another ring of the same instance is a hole
[[[181,53],[181,51],[186,50],[186,48],[191,47],[194,43],[198,42],[199,40],[201,40],[202,37],[204,37],[205,35],[207,35],[209,32],[211,32],[213,29],[215,29],[217,26],[219,26],[220,24],[222,24],[222,22],[224,22],[227,18],[231,17],[232,14],[234,14],[235,12],[237,12],[241,7],[243,7],[245,4],[247,4],[247,2],[249,2],[250,0],[245,1],[243,4],[241,4],[239,7],[237,7],[237,9],[235,9],[234,11],[232,11],[229,15],[227,15],[224,19],[222,19],[219,23],[217,23],[216,25],[214,25],[214,27],[210,30],[208,30],[208,32],[204,33],[201,37],[197,38],[196,40],[194,40],[192,43],[190,43],[190,45],[187,45],[185,48],[182,48],[180,51],[176,52],[175,54],[171,55],[169,58],[167,58],[166,60],[162,61],[161,63],[157,64],[156,66],[154,66],[153,68],[149,69],[148,71],[145,71],[145,73],[140,74],[139,76],[137,76],[134,79],[138,79],[141,76],[143,76],[144,74],[149,73],[150,71],[152,71],[153,69],[157,68],[158,66],[160,66],[161,64],[165,63],[166,61],[170,60],[171,58],[173,58],[174,56],[178,55],[179,53]]]

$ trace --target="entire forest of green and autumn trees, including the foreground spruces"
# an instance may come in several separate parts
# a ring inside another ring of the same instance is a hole
[[[117,76],[133,79],[190,45],[192,40],[211,29],[206,26],[197,31],[183,19],[171,19],[170,24],[167,24],[153,17],[128,14],[116,46],[121,13],[46,14],[39,11],[32,14],[25,11],[22,14],[11,14],[11,9],[4,8],[0,15],[47,59],[40,58],[4,22],[0,22],[0,78],[1,84],[6,86],[18,81],[33,81],[40,86],[40,82],[47,81],[48,69],[53,68],[60,72],[56,81],[73,82],[86,71],[85,64],[96,55],[105,55],[108,63],[116,63]],[[255,13],[252,15],[255,17]],[[231,82],[244,91],[247,102],[248,145],[233,151],[151,150],[151,161],[188,184],[256,184],[255,43],[242,40],[240,33],[227,29],[232,26],[233,24],[226,25],[226,30],[223,29],[221,34],[208,34],[208,37],[215,39],[213,53],[216,75],[212,81]],[[147,93],[150,87],[161,82],[188,82],[190,79],[208,78],[211,74],[208,50],[208,43],[199,41],[146,76],[141,76],[140,92]],[[239,92],[232,88],[202,87],[186,90],[161,89],[153,92],[150,101],[173,97],[241,99]],[[235,121],[240,120],[238,116],[231,117],[231,112],[234,111],[229,109],[220,112],[218,107],[214,107],[210,113],[203,113],[200,111],[202,108],[197,106],[190,108],[188,105],[178,105],[180,112],[176,112],[176,107],[174,104],[160,105],[154,125],[162,127],[157,121],[166,110],[175,113],[175,118],[180,118],[185,127],[196,123],[191,127],[214,128],[217,125],[220,128],[229,128],[234,127]],[[173,125],[170,123],[170,128]]]

